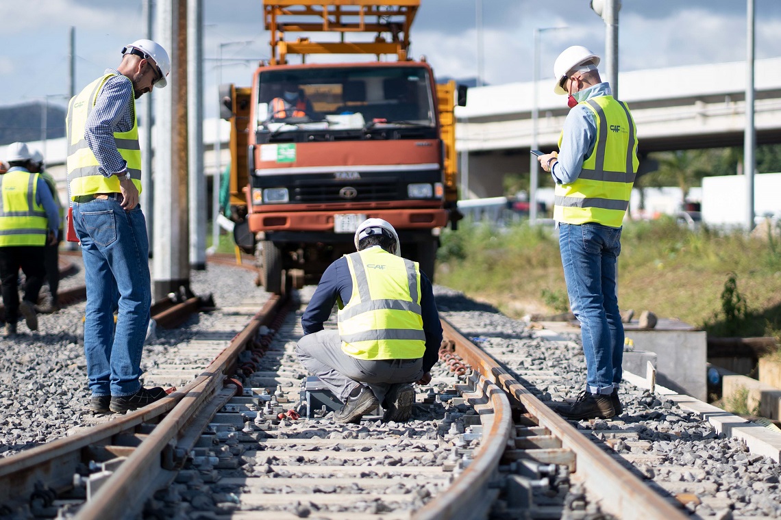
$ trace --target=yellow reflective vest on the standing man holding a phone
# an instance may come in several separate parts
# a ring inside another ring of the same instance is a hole
[[[556,184],[555,221],[620,228],[637,173],[637,128],[625,103],[612,96],[583,101],[597,119],[597,143],[575,182]],[[564,133],[558,138],[562,147]]]

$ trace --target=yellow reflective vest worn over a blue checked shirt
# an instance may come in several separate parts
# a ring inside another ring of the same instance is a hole
[[[68,182],[70,198],[93,193],[119,193],[119,178],[116,175],[106,177],[98,169],[97,157],[84,139],[87,119],[95,108],[95,101],[106,80],[116,74],[106,74],[93,81],[79,94],[73,96],[68,104],[66,129],[68,135]],[[125,76],[123,76],[125,77]],[[130,81],[129,78],[125,78]],[[127,132],[115,132],[116,149],[127,161],[127,171],[138,193],[141,193],[141,146],[138,143],[138,122],[136,120],[136,101],[130,97],[130,111],[133,128]]]

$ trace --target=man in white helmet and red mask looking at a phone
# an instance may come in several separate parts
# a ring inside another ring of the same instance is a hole
[[[624,327],[616,292],[621,227],[637,173],[637,128],[625,103],[600,79],[600,58],[576,45],[554,64],[556,94],[569,111],[558,154],[539,157],[555,186],[564,278],[580,321],[587,387],[557,411],[568,419],[609,419],[622,412]]]

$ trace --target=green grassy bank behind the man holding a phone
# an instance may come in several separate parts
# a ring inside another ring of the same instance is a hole
[[[691,231],[672,218],[628,222],[619,304],[702,327],[715,336],[781,338],[781,246],[770,236]],[[512,317],[566,306],[558,240],[549,227],[463,223],[442,235],[437,282]]]

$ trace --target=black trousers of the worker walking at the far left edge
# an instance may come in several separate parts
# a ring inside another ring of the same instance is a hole
[[[38,292],[44,284],[43,246],[0,247],[0,280],[2,280],[2,302],[5,306],[5,321],[16,323],[19,319],[19,270],[24,272],[24,299],[35,305]]]

